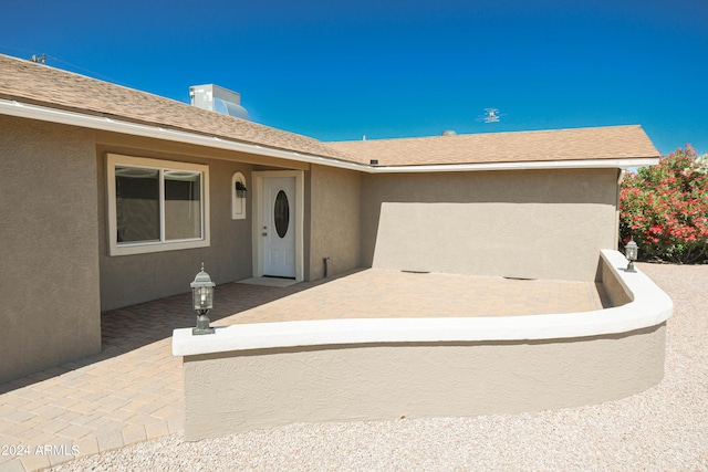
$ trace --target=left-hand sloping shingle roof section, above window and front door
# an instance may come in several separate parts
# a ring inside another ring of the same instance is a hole
[[[2,54],[0,98],[351,160],[313,138]]]

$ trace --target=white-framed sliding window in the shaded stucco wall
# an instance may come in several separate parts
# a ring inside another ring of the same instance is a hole
[[[209,245],[209,167],[107,155],[111,255]]]

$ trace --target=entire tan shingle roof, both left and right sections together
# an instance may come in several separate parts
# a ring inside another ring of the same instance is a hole
[[[379,166],[657,158],[641,126],[322,143],[0,54],[0,98]],[[326,162],[322,162],[326,164]]]

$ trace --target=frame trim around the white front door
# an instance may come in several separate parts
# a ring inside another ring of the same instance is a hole
[[[304,207],[305,174],[302,170],[258,170],[251,172],[253,179],[253,276],[263,276],[263,179],[270,177],[295,178],[295,281],[304,280]],[[249,192],[250,193],[250,192]]]

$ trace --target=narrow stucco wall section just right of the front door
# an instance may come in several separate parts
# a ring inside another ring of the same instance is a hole
[[[312,166],[305,187],[305,279],[324,276],[324,258],[327,275],[358,268],[361,174]]]

